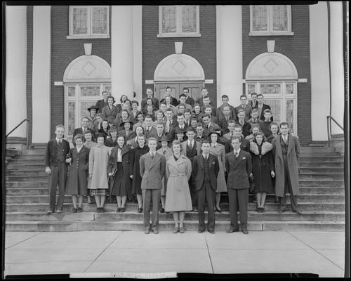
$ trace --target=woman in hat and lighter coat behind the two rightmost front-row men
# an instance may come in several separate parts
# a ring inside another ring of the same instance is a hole
[[[219,172],[217,176],[216,211],[221,213],[220,192],[227,192],[227,184],[225,183],[225,147],[224,145],[218,143],[220,138],[219,131],[210,131],[208,138],[211,143],[210,153],[216,155],[218,158]]]

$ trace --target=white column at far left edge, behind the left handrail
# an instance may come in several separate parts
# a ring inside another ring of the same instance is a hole
[[[27,118],[27,8],[6,6],[6,133]],[[22,124],[9,137],[26,137]]]

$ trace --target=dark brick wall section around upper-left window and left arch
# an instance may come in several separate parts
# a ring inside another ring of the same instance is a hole
[[[110,8],[111,30],[111,8]],[[55,126],[64,124],[64,89],[54,86],[54,81],[62,81],[69,63],[84,55],[84,43],[92,43],[92,55],[98,55],[111,65],[111,39],[66,39],[69,33],[69,6],[51,8],[51,137]]]

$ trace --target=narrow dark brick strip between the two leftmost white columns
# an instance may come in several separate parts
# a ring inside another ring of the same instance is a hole
[[[33,6],[27,6],[27,119],[29,119],[29,143],[32,143],[32,70],[33,70]]]

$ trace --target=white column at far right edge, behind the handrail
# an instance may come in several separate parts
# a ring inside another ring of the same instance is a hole
[[[343,126],[344,70],[343,70],[343,3],[330,1],[330,55],[331,55],[331,116]],[[331,133],[343,133],[331,123]]]

